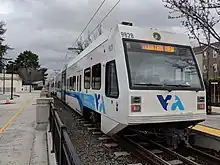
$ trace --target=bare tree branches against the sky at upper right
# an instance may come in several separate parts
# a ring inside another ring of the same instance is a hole
[[[181,23],[189,30],[190,39],[195,39],[200,46],[209,46],[220,52],[211,44],[220,42],[216,24],[220,21],[219,0],[162,0],[170,10],[170,19],[181,19]]]

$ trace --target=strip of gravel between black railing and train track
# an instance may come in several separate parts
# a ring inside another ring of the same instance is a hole
[[[92,131],[88,131],[87,127],[84,127],[77,119],[80,116],[64,106],[60,101],[55,100],[55,107],[58,109],[58,114],[62,122],[67,125],[68,134],[75,147],[81,161],[85,165],[127,165],[133,163],[139,163],[139,161],[133,157],[122,156],[116,158],[114,152],[125,151],[120,147],[107,148],[104,146],[106,141],[99,141],[98,138],[102,135],[92,135]],[[113,142],[110,140],[110,142]]]

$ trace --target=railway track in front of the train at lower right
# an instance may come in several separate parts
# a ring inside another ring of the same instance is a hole
[[[131,151],[142,163],[154,165],[219,165],[220,159],[193,147],[178,149],[149,140],[144,134],[128,134],[115,137],[123,147]]]

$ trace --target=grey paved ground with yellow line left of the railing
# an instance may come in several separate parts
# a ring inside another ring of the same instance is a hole
[[[46,131],[35,130],[39,92],[0,105],[0,165],[47,165]]]

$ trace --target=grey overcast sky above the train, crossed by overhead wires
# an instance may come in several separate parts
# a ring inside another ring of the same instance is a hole
[[[0,0],[0,20],[7,24],[5,39],[14,48],[7,56],[15,58],[28,49],[39,55],[42,66],[61,68],[67,48],[73,44],[101,2]],[[88,30],[92,30],[116,2],[106,0]],[[140,27],[186,31],[180,26],[179,20],[168,20],[167,16],[168,10],[162,0],[121,0],[103,27],[114,28],[117,23],[130,21]]]

